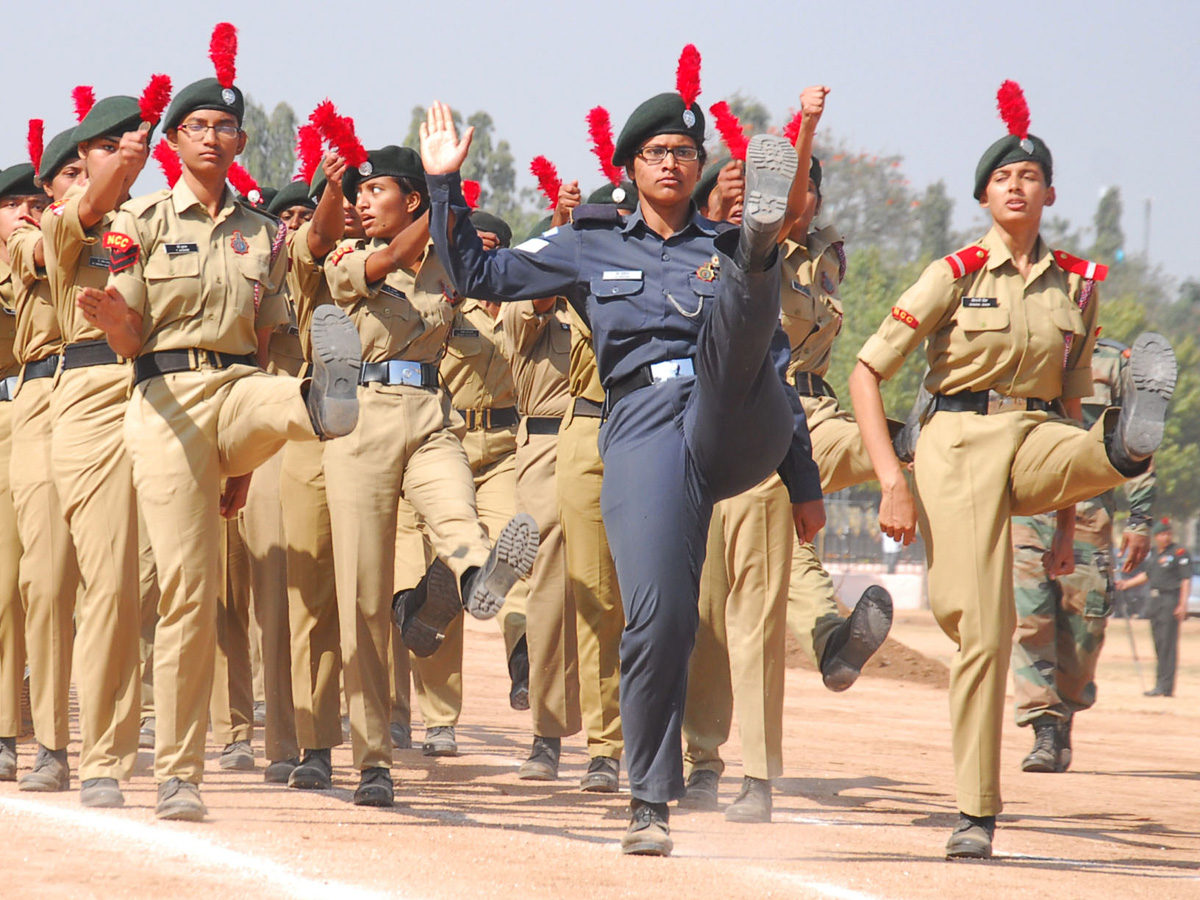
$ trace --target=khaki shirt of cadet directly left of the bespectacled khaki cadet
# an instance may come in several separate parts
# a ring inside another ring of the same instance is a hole
[[[116,214],[108,212],[85,229],[79,221],[79,203],[86,192],[86,187],[74,185],[42,215],[46,277],[64,343],[104,340],[104,332],[88,323],[74,299],[80,288],[103,290],[108,283],[108,251],[101,238],[110,230]]]

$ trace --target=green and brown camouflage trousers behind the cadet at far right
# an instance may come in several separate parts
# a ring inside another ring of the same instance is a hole
[[[1112,522],[1099,500],[1079,504],[1075,571],[1050,580],[1043,556],[1054,514],[1013,520],[1016,724],[1067,718],[1096,702],[1096,665],[1112,613]]]

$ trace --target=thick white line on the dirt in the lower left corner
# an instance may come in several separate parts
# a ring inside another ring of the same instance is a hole
[[[299,875],[287,865],[222,846],[208,838],[190,832],[176,830],[169,824],[145,824],[98,810],[65,809],[16,797],[0,797],[0,810],[7,815],[31,816],[71,828],[90,832],[100,839],[100,846],[136,844],[155,851],[184,854],[193,864],[211,869],[214,874],[228,876],[232,872],[253,875],[287,896],[300,900],[384,900],[401,896],[335,881],[317,881]]]

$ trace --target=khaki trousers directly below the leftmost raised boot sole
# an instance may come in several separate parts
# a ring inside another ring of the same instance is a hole
[[[283,448],[280,503],[287,533],[288,623],[296,739],[306,750],[342,743],[342,643],[324,443]]]

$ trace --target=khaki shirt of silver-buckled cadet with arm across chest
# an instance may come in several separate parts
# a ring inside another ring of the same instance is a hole
[[[416,269],[397,269],[367,283],[367,257],[386,246],[382,239],[338,244],[324,264],[330,296],[359,330],[364,362],[437,362],[454,320],[443,294],[450,280],[431,244]],[[312,322],[312,311],[307,316]]]

